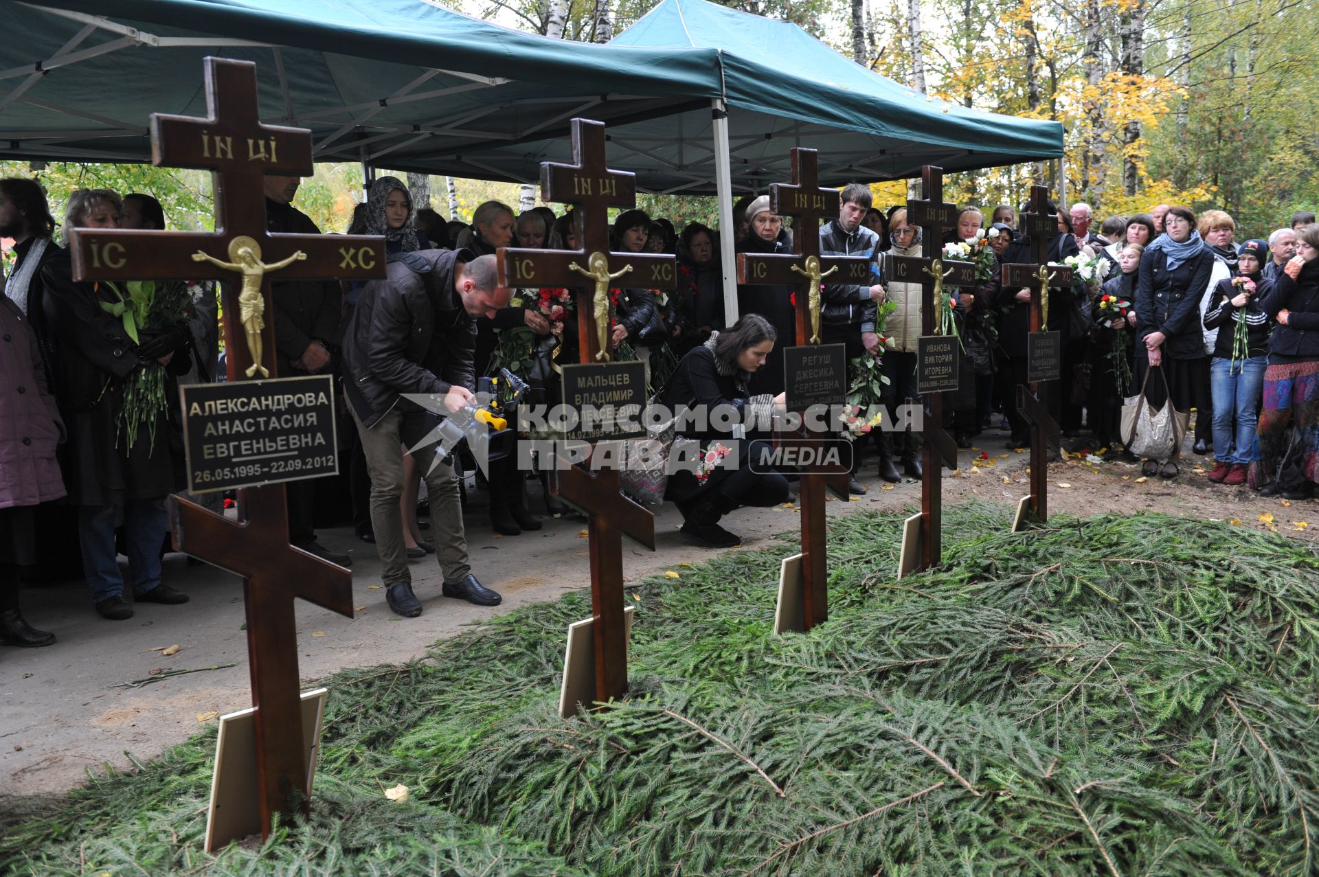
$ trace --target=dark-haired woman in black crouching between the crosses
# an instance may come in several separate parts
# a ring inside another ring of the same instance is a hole
[[[752,396],[748,389],[776,339],[769,320],[744,314],[731,330],[712,332],[683,356],[661,393],[660,402],[674,415],[703,409],[704,417],[679,419],[679,425],[692,425],[681,434],[700,443],[702,460],[715,462],[715,468],[686,468],[669,480],[665,499],[677,502],[683,520],[679,531],[689,542],[733,547],[741,538],[719,526],[719,518],[743,505],[768,508],[787,500],[787,479],[772,468],[751,468],[752,460],[764,460],[770,443],[745,437],[765,430],[773,409],[783,404],[782,393]]]

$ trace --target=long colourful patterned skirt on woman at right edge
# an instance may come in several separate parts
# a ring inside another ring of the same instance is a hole
[[[1319,361],[1278,363],[1264,372],[1256,462],[1249,484],[1295,489],[1315,480],[1319,462]]]

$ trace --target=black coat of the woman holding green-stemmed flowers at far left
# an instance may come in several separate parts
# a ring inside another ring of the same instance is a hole
[[[156,440],[144,426],[132,447],[119,426],[125,382],[153,360],[138,356],[138,346],[124,331],[123,319],[108,314],[102,302],[119,298],[108,285],[75,282],[67,249],[55,251],[41,269],[41,311],[47,342],[54,353],[59,411],[69,440],[59,448],[59,468],[69,488],[69,502],[108,505],[120,499],[152,500],[182,487],[182,437],[170,425],[169,413],[156,421]],[[29,309],[32,298],[28,299]],[[189,369],[187,328],[168,367],[168,376]],[[138,339],[146,344],[144,331]],[[177,394],[168,378],[166,396]]]

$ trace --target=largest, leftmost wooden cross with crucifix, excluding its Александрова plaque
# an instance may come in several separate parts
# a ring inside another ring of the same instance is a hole
[[[384,277],[384,239],[268,233],[262,177],[310,175],[311,132],[261,124],[256,66],[248,61],[206,58],[206,119],[152,115],[152,162],[212,171],[215,233],[75,229],[74,277],[224,281],[228,380],[276,377],[266,274]],[[241,270],[241,282],[222,265]],[[239,521],[228,521],[170,497],[175,547],[243,576],[261,827],[269,835],[274,814],[307,810],[293,600],[352,617],[352,575],[289,545],[282,484],[240,489],[237,512]]]

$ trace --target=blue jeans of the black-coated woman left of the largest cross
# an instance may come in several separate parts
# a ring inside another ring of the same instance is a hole
[[[80,505],[78,537],[82,539],[83,576],[91,586],[95,603],[124,593],[124,576],[119,571],[119,553],[115,550],[115,518],[120,510],[124,513],[124,543],[133,593],[140,596],[161,583],[161,545],[169,529],[165,497]]]

